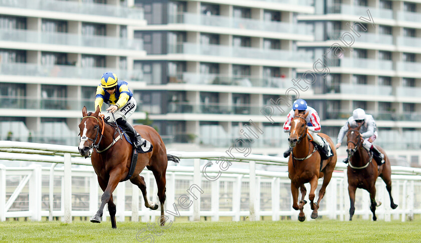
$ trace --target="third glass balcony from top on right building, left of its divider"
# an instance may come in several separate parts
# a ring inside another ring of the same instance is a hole
[[[374,70],[393,70],[393,61],[370,58],[339,58],[333,66],[345,68],[364,68]]]

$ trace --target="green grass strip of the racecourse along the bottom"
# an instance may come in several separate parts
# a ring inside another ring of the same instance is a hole
[[[75,221],[0,222],[0,242],[138,242],[136,235],[147,223],[117,222],[111,229],[102,223]],[[143,242],[421,242],[421,220],[354,221],[312,220],[305,222],[174,222],[162,230],[155,224],[155,235],[146,229],[139,233]]]

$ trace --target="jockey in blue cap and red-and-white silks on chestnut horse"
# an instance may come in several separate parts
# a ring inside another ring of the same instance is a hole
[[[295,110],[298,109],[298,113],[305,114],[308,111],[308,115],[306,117],[307,126],[308,126],[308,133],[313,137],[313,141],[317,144],[317,149],[320,153],[323,153],[326,157],[328,157],[328,144],[325,144],[322,138],[317,134],[320,132],[320,118],[317,114],[317,111],[308,106],[307,102],[304,99],[297,99],[292,104],[292,110],[288,113],[287,121],[284,123],[284,132],[289,132],[291,128],[291,120],[294,117]],[[288,157],[291,153],[292,148],[289,147],[284,152],[284,157]]]

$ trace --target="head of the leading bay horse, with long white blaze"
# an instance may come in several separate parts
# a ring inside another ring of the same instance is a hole
[[[98,139],[101,135],[98,114],[99,106],[97,106],[95,113],[88,113],[86,107],[83,106],[83,117],[82,121],[79,124],[80,143],[78,147],[79,153],[82,156],[88,157],[90,154],[90,149],[98,145]]]

